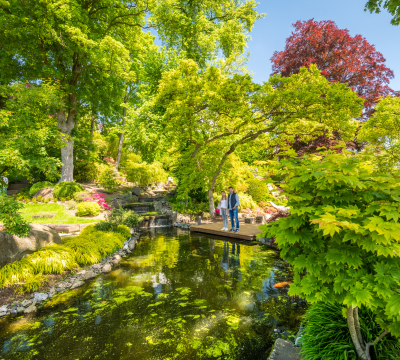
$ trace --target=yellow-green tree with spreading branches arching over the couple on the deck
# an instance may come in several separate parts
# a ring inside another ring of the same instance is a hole
[[[203,188],[214,214],[213,191],[228,157],[262,134],[268,146],[295,136],[337,129],[352,136],[362,100],[345,84],[330,84],[316,66],[257,85],[248,74],[204,73],[183,60],[164,74],[156,104],[166,108],[164,131],[183,152],[181,191]]]

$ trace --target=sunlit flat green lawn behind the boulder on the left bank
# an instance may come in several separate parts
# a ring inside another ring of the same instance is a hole
[[[56,214],[52,218],[32,218],[32,215]],[[29,224],[86,224],[102,220],[71,216],[61,204],[25,204],[21,215]]]

